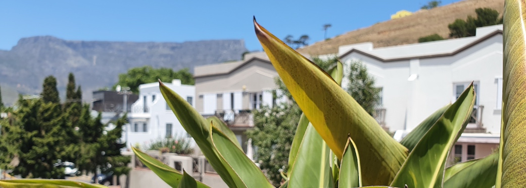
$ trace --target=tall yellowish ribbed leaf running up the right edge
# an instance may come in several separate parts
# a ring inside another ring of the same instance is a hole
[[[526,2],[504,3],[502,125],[496,187],[526,187]]]

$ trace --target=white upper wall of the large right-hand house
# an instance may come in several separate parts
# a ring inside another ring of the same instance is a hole
[[[362,61],[369,74],[375,77],[376,86],[383,87],[386,126],[391,131],[411,130],[431,113],[453,102],[454,83],[478,81],[478,100],[484,106],[483,127],[488,132],[500,132],[500,109],[497,107],[500,99],[495,78],[502,78],[502,35],[447,57],[383,62],[353,52],[341,58],[346,74],[351,59]],[[411,74],[418,74],[418,78],[408,81]],[[347,79],[343,80],[344,88]]]

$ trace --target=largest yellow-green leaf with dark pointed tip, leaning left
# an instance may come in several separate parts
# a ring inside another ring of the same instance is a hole
[[[292,97],[338,159],[342,158],[350,134],[363,155],[363,183],[389,184],[406,159],[407,149],[383,131],[326,72],[255,20],[254,25],[261,45]]]

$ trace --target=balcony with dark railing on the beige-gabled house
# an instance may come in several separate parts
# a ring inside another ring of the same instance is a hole
[[[254,127],[254,116],[250,110],[216,110],[215,116],[228,127]]]

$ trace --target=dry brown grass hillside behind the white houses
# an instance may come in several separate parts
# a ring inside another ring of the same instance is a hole
[[[475,16],[475,9],[488,7],[501,13],[504,0],[465,0],[446,6],[421,10],[411,16],[388,20],[370,27],[312,44],[299,49],[310,55],[333,54],[342,45],[372,42],[375,47],[395,46],[418,43],[418,38],[434,33],[449,37],[448,25],[455,19],[466,19]]]

